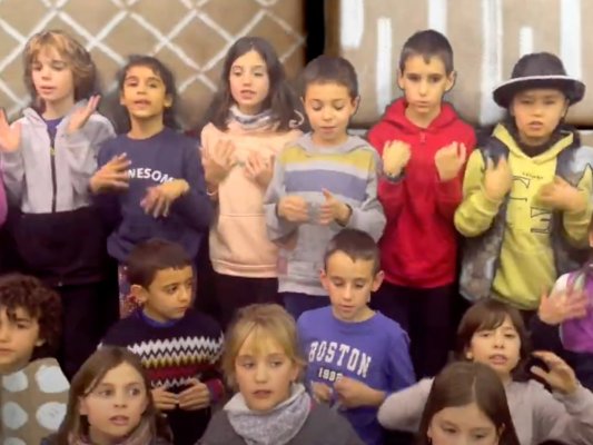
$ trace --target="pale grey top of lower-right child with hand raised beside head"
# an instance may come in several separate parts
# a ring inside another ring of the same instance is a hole
[[[378,412],[379,423],[388,429],[417,432],[432,379],[388,396]],[[593,444],[593,394],[580,386],[566,396],[548,393],[535,380],[506,385],[508,409],[521,445],[561,441],[566,445]]]

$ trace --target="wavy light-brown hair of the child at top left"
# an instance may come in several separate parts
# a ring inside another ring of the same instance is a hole
[[[52,48],[72,70],[75,82],[75,101],[88,99],[99,92],[97,67],[87,49],[73,37],[62,30],[42,31],[29,39],[24,47],[24,86],[33,99],[33,107],[45,109],[43,101],[38,97],[32,79],[32,65],[42,51]]]

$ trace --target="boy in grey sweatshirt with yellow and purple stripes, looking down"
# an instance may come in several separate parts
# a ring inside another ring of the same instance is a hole
[[[352,63],[328,56],[310,61],[302,100],[312,132],[281,151],[265,198],[268,235],[280,245],[278,290],[295,318],[328,303],[318,274],[329,239],[344,227],[378,239],[385,227],[379,160],[367,142],[347,134],[360,100]]]

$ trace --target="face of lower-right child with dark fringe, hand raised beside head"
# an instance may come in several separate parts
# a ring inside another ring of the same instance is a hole
[[[508,316],[496,329],[477,330],[465,352],[467,359],[492,367],[506,382],[521,359],[521,337]]]

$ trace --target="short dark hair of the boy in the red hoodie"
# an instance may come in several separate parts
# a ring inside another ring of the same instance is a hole
[[[399,71],[404,72],[412,56],[422,56],[427,63],[433,57],[438,57],[447,76],[453,71],[453,48],[445,36],[433,29],[415,32],[406,40],[399,53]]]

